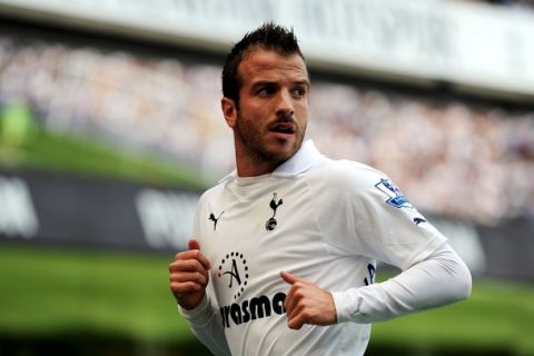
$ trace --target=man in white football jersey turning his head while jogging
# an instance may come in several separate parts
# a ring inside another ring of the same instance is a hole
[[[471,274],[382,172],[304,141],[310,82],[293,31],[233,48],[221,108],[236,171],[200,198],[170,288],[216,355],[363,355],[370,323],[466,298]],[[403,273],[374,284],[376,260]]]

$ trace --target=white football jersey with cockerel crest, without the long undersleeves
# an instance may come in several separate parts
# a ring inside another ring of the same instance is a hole
[[[370,324],[287,327],[280,271],[343,294],[373,284],[376,260],[406,269],[445,241],[384,174],[312,141],[273,174],[234,172],[205,192],[195,237],[231,355],[363,355]]]

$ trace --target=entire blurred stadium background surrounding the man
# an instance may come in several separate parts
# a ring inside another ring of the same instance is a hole
[[[234,162],[224,56],[266,20],[307,55],[308,137],[386,171],[475,278],[367,354],[534,355],[534,8],[439,0],[0,0],[0,355],[207,355],[167,265]]]

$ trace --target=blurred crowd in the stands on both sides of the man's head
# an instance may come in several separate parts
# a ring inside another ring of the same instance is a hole
[[[0,106],[210,181],[234,165],[219,78],[209,65],[0,38]],[[488,225],[534,215],[534,111],[314,81],[308,138],[385,171],[423,211]]]

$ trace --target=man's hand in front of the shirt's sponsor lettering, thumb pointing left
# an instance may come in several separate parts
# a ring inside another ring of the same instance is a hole
[[[280,276],[291,285],[284,301],[289,328],[299,329],[304,324],[333,325],[337,323],[336,306],[329,291],[284,270]]]

